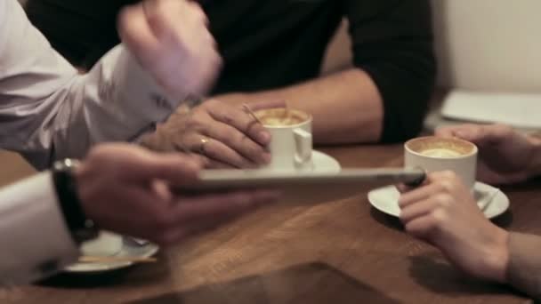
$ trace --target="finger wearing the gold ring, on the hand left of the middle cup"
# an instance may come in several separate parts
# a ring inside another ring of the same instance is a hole
[[[188,147],[190,151],[217,162],[228,164],[234,168],[246,169],[257,167],[257,164],[250,159],[238,154],[233,148],[212,137],[207,137],[199,133],[190,133],[184,136],[183,141],[184,147]]]

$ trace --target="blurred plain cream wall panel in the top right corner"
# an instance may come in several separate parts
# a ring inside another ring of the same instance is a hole
[[[440,85],[541,92],[541,1],[433,0]]]

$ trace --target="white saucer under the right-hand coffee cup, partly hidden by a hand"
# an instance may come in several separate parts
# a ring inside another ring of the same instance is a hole
[[[498,188],[478,181],[474,191],[477,204],[488,219],[496,218],[509,208],[509,198]],[[399,197],[399,191],[392,185],[368,192],[368,201],[375,209],[395,217],[400,216]]]

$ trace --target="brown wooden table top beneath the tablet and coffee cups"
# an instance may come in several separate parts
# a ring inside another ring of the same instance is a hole
[[[397,146],[324,148],[344,167],[396,166]],[[499,225],[541,234],[541,181],[504,188]],[[2,303],[527,303],[460,274],[400,222],[359,196],[275,205],[160,253],[157,264],[106,276],[57,276],[0,292]]]

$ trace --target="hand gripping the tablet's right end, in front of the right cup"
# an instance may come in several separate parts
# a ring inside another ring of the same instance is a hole
[[[508,234],[485,218],[455,172],[429,174],[425,185],[403,193],[399,204],[409,234],[439,248],[465,273],[505,282]]]

